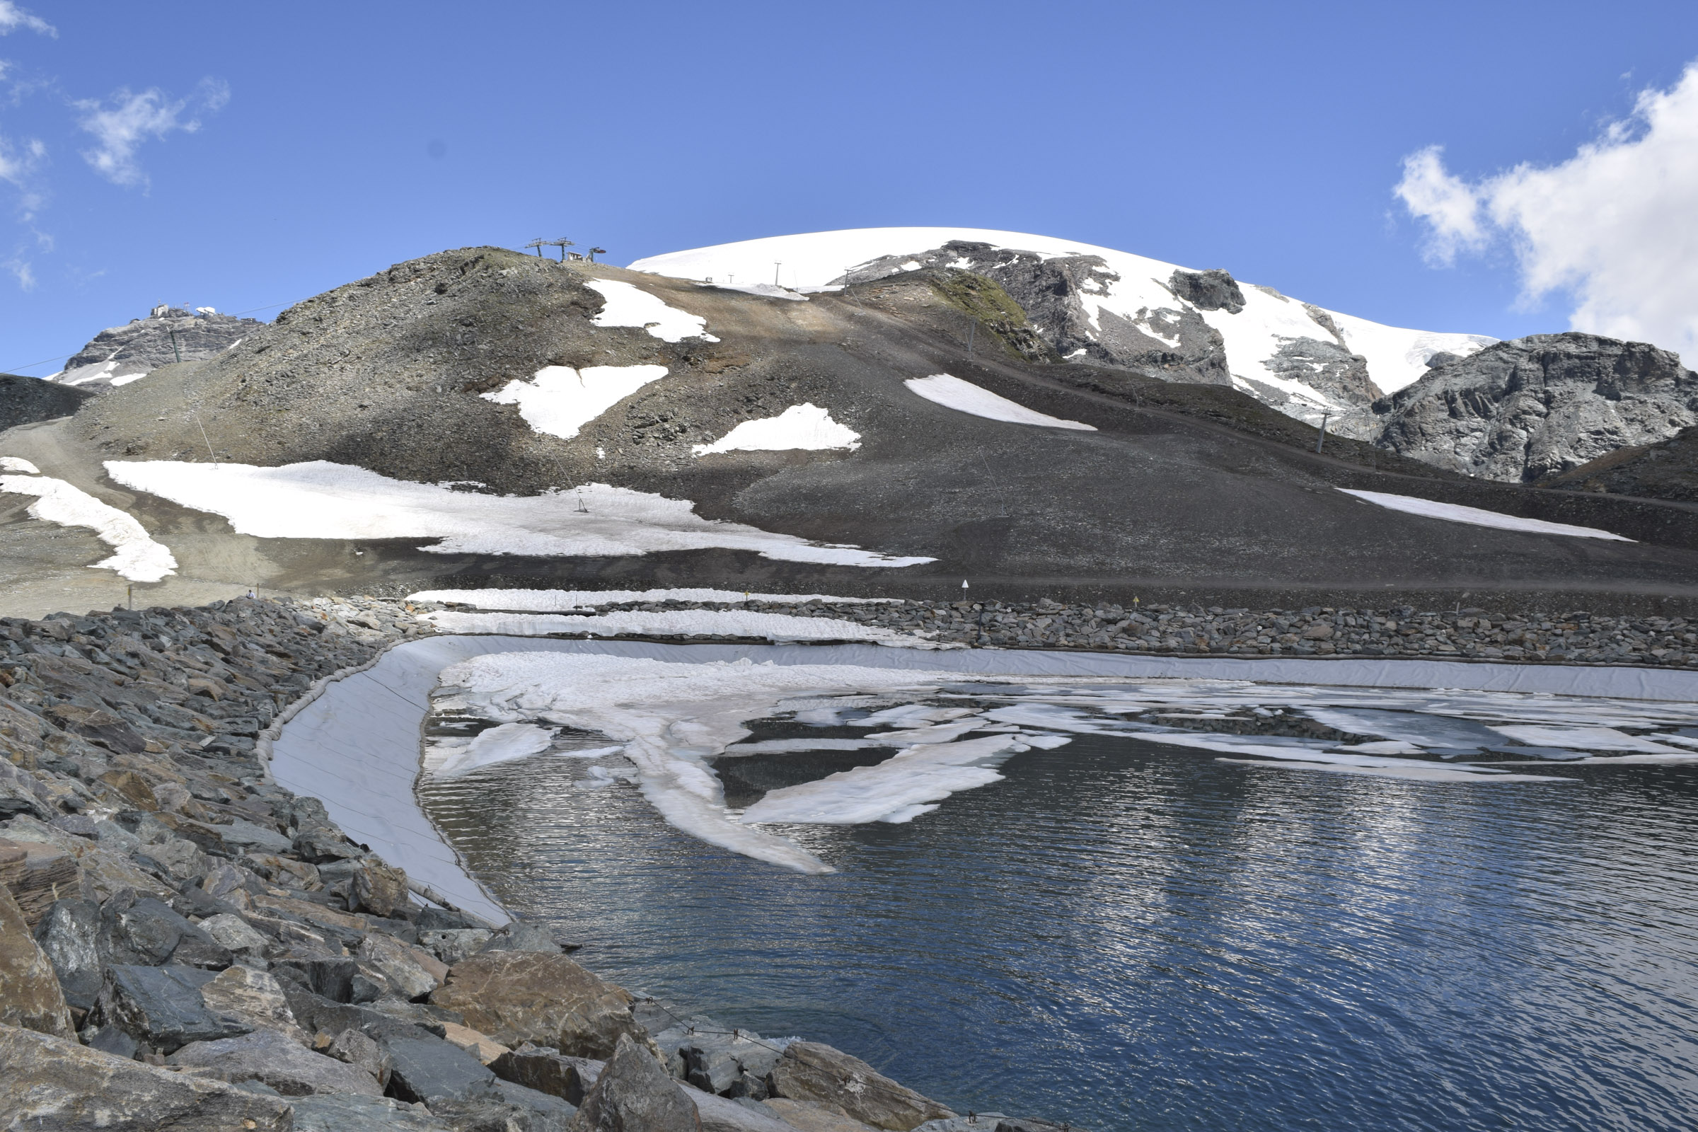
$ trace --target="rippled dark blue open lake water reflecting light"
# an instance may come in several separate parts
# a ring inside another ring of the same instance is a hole
[[[849,765],[752,759],[728,789]],[[908,825],[776,827],[829,876],[705,845],[627,782],[574,787],[589,769],[421,798],[601,974],[963,1112],[1447,1132],[1698,1112],[1693,767],[1435,784],[1078,735]]]

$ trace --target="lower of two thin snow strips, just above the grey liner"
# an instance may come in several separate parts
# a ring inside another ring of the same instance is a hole
[[[498,633],[503,636],[545,636],[589,633],[593,636],[756,636],[783,642],[871,642],[895,648],[964,648],[939,645],[924,633],[900,633],[878,625],[841,618],[795,618],[754,609],[618,609],[594,616],[426,613],[424,619],[443,633]]]

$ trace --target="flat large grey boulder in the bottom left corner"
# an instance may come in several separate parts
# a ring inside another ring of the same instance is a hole
[[[289,1105],[221,1081],[0,1025],[0,1127],[73,1132],[290,1132]]]

